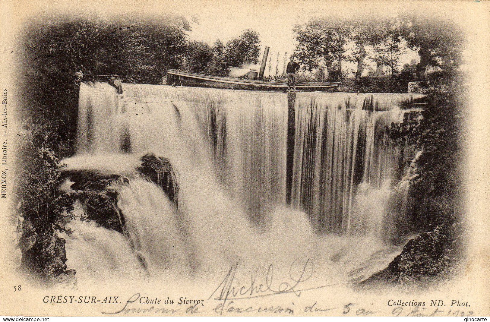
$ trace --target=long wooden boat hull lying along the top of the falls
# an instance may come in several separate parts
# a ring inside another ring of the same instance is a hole
[[[167,71],[167,85],[276,92],[286,92],[288,89],[286,82],[211,76],[171,69]],[[296,82],[295,86],[296,91],[330,92],[338,88],[339,83]]]

